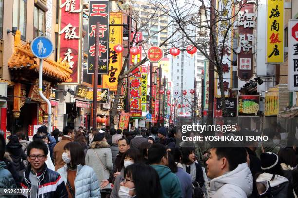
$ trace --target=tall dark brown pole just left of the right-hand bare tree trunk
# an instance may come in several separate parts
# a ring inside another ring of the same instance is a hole
[[[213,31],[214,28],[214,23],[215,23],[215,0],[211,0],[211,6],[210,6],[210,26],[212,27],[212,32],[215,33],[215,31]],[[213,41],[211,33],[210,33],[210,59],[214,60],[214,46],[213,43],[215,41]],[[206,71],[207,72],[207,71]],[[213,117],[213,100],[214,100],[214,64],[212,63],[212,61],[209,61],[209,102],[208,102],[208,117],[212,118]]]

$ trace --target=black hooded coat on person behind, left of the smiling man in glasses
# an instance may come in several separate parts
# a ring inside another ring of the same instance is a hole
[[[24,160],[26,160],[27,155],[24,153],[22,149],[22,145],[19,142],[9,142],[6,145],[7,152],[9,152],[10,157],[12,159],[12,164],[16,168],[16,171],[19,175],[25,170]]]

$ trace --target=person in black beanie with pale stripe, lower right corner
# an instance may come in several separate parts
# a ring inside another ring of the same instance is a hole
[[[279,157],[272,152],[261,153],[263,173],[256,175],[256,184],[269,181],[273,198],[294,198],[291,182],[284,177]]]

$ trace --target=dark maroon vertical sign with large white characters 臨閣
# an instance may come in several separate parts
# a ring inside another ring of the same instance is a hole
[[[253,76],[253,52],[254,52],[254,4],[245,3],[238,13],[238,78],[249,80]]]

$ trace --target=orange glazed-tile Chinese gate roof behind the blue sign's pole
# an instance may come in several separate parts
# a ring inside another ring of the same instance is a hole
[[[21,43],[20,31],[17,31],[15,35],[14,52],[8,60],[8,68],[39,72],[39,60],[32,54],[30,43],[27,42],[25,45]],[[43,75],[56,82],[71,81],[70,75],[72,72],[68,63],[61,62],[61,60],[55,62],[50,59],[44,59],[43,61]]]

